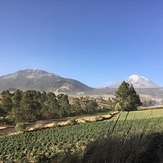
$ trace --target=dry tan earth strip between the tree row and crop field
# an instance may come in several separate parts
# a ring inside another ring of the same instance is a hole
[[[97,116],[85,116],[85,117],[66,117],[62,119],[48,119],[48,120],[39,120],[35,122],[26,122],[26,131],[33,131],[43,128],[52,128],[56,126],[67,126],[72,124],[81,124],[87,122],[97,122],[97,121],[105,121],[110,120],[113,117],[117,116],[119,112],[113,112],[105,115],[97,115]],[[73,121],[71,119],[73,118]],[[6,135],[16,135],[19,134],[15,131],[14,125],[0,125],[0,136]]]

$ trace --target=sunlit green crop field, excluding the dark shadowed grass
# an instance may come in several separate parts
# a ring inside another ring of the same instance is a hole
[[[145,118],[140,118],[142,115]],[[162,115],[161,109],[153,111],[152,116],[151,111],[136,111],[131,114],[124,112],[112,121],[42,129],[3,137],[0,139],[0,160],[38,163],[54,160],[80,162],[87,144],[96,139],[109,136],[119,139],[127,138],[129,135],[162,132]]]

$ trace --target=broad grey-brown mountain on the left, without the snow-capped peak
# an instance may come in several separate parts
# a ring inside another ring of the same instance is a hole
[[[63,78],[39,69],[20,70],[0,77],[0,91],[14,89],[34,89],[69,94],[92,90],[91,87],[77,80]]]

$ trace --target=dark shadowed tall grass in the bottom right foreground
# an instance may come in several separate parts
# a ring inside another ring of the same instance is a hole
[[[82,163],[162,163],[163,133],[112,136],[87,145]]]

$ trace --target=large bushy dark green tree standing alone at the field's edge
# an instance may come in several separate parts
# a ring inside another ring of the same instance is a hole
[[[142,103],[140,97],[135,91],[133,85],[126,83],[125,81],[119,86],[118,90],[115,92],[115,109],[124,111],[137,110],[137,107]]]

